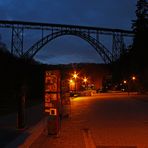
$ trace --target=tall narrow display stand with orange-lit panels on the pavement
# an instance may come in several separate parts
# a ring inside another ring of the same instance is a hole
[[[57,134],[60,126],[60,71],[45,71],[44,111],[47,114],[48,134]]]

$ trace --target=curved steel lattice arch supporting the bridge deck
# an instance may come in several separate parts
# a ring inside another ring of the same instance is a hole
[[[74,35],[82,38],[83,40],[87,41],[96,51],[97,53],[101,56],[103,61],[105,63],[111,63],[113,55],[112,53],[98,40],[93,38],[92,36],[89,35],[87,32],[81,32],[81,31],[76,31],[76,30],[62,30],[62,31],[57,31],[54,33],[51,33],[39,41],[37,41],[31,48],[29,48],[23,55],[23,58],[33,58],[35,54],[41,50],[43,46],[45,46],[47,43],[52,41],[53,39],[63,36],[63,35]]]

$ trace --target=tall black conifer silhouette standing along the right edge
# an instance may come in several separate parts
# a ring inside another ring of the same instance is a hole
[[[135,11],[137,19],[133,21],[135,32],[133,47],[130,52],[131,69],[139,75],[142,82],[148,74],[148,2],[138,0]]]

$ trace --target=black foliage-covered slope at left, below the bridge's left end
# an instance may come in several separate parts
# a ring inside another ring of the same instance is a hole
[[[17,110],[21,88],[25,86],[26,105],[43,99],[43,68],[34,61],[14,57],[3,46],[0,48],[0,111]],[[10,109],[8,109],[10,108]]]

